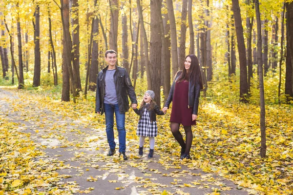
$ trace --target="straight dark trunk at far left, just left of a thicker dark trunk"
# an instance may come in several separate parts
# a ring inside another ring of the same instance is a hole
[[[17,4],[19,8],[19,4]],[[20,78],[19,78],[19,89],[24,88],[24,78],[23,78],[23,63],[22,63],[22,45],[21,45],[21,22],[19,15],[17,16],[17,38],[18,38],[18,52],[19,52],[19,70],[20,70]]]

